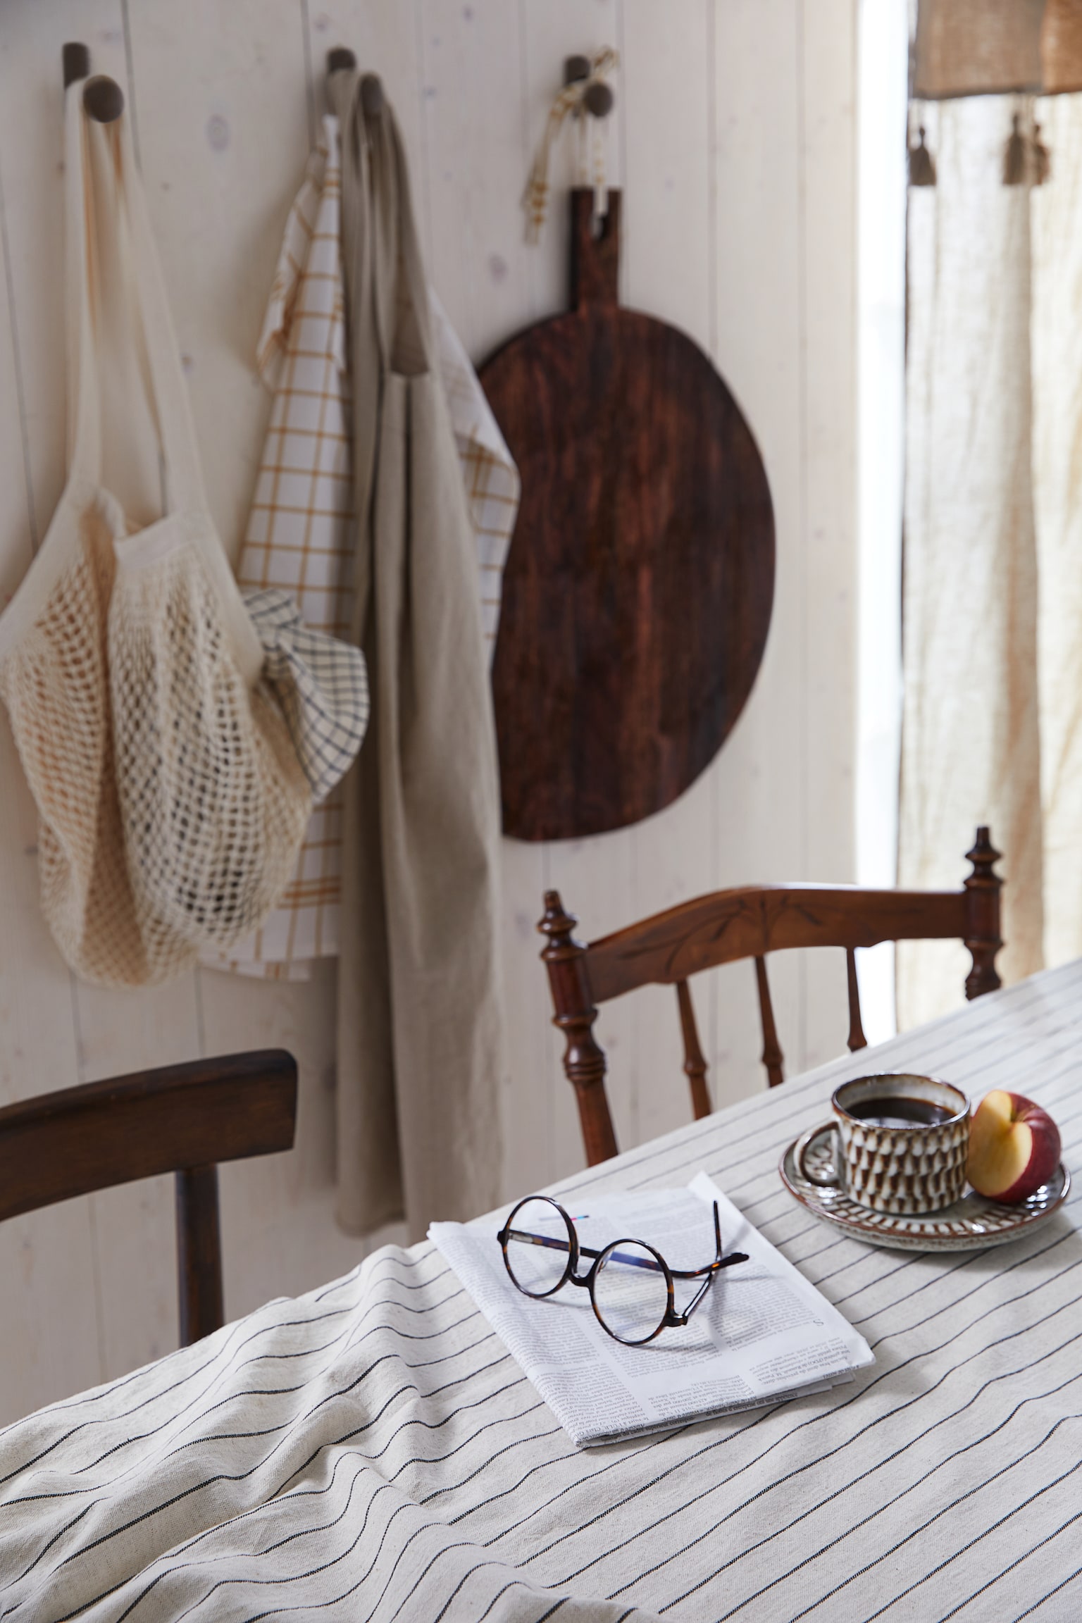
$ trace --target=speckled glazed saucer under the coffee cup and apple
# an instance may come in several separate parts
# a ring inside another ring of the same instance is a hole
[[[777,1169],[788,1193],[813,1216],[855,1240],[886,1245],[895,1251],[983,1251],[990,1245],[1006,1245],[1007,1240],[1017,1240],[1051,1217],[1071,1193],[1071,1173],[1061,1162],[1054,1178],[1020,1206],[996,1206],[994,1201],[968,1190],[954,1206],[944,1206],[942,1211],[930,1212],[926,1217],[891,1217],[858,1206],[842,1190],[822,1188],[801,1178],[796,1172],[795,1149],[796,1141],[788,1146]],[[829,1126],[824,1125],[822,1133],[811,1139],[805,1162],[811,1167],[816,1162],[829,1165]]]

